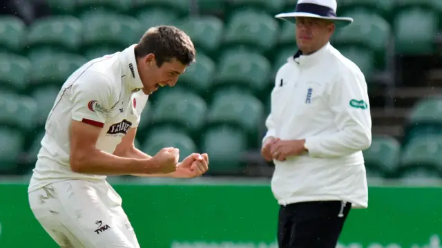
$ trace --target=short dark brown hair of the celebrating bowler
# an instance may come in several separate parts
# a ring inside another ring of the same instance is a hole
[[[155,55],[157,66],[161,67],[173,58],[189,66],[195,61],[195,46],[191,38],[174,26],[157,26],[149,28],[135,47],[135,57]]]

